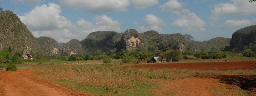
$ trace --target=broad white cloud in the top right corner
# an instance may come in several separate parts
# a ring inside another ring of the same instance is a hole
[[[249,15],[256,13],[256,3],[244,0],[231,0],[231,3],[215,4],[212,10],[211,19],[219,20],[221,15]]]

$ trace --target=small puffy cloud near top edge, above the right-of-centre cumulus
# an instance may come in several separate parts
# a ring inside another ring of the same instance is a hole
[[[178,2],[177,0],[170,0],[165,4],[161,5],[160,8],[162,9],[162,11],[171,12],[174,9],[181,9],[182,3]]]

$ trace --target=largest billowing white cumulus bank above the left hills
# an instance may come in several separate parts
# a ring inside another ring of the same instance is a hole
[[[60,13],[60,5],[49,3],[36,6],[24,16],[18,17],[34,36],[49,36],[58,42],[68,42],[73,38],[82,40],[94,31],[121,31],[121,23],[106,15],[94,17],[95,24],[84,19],[72,24]]]

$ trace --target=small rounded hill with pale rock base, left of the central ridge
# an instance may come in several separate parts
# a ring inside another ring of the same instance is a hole
[[[71,39],[69,42],[63,45],[63,53],[67,54],[80,54],[84,52],[82,44],[77,39]]]

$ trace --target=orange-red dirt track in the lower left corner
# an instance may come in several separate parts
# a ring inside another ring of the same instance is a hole
[[[33,70],[0,71],[0,96],[86,96],[84,92],[49,82]]]

